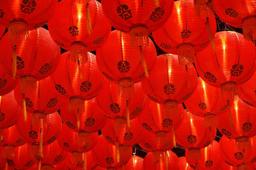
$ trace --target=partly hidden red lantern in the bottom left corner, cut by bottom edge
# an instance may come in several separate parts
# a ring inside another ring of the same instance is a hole
[[[14,153],[15,157],[6,161],[10,169],[29,169],[35,164],[35,161],[30,158],[29,145],[27,143],[14,148]]]

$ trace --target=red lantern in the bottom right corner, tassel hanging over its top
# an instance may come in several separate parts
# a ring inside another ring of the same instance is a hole
[[[255,161],[256,147],[255,147],[255,137],[250,138],[250,145],[252,149],[249,151],[239,151],[236,148],[236,140],[228,139],[223,136],[220,139],[220,152],[221,159],[225,160],[230,165],[237,167],[237,169],[246,169],[252,162]]]

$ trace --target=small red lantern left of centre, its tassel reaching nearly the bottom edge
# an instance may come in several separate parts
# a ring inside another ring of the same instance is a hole
[[[84,132],[78,134],[71,131],[66,125],[63,125],[58,143],[65,151],[72,153],[72,164],[86,164],[87,153],[96,145],[98,140],[98,132]],[[84,161],[85,160],[85,161]]]

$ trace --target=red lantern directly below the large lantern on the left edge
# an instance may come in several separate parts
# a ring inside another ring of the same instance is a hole
[[[33,123],[40,118],[45,118],[46,115],[54,113],[60,109],[62,104],[61,97],[54,89],[54,82],[50,77],[36,81],[35,92],[31,89],[26,89],[24,96],[20,92],[20,85],[15,90],[15,98],[20,106],[23,106],[23,99],[26,103],[26,111],[33,114]],[[63,99],[62,99],[63,100]]]

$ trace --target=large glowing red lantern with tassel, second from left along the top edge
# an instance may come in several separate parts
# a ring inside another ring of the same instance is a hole
[[[101,4],[92,0],[74,3],[65,0],[58,3],[51,20],[49,32],[52,39],[71,52],[71,60],[87,61],[87,51],[99,48],[108,38],[111,25],[106,20]]]

